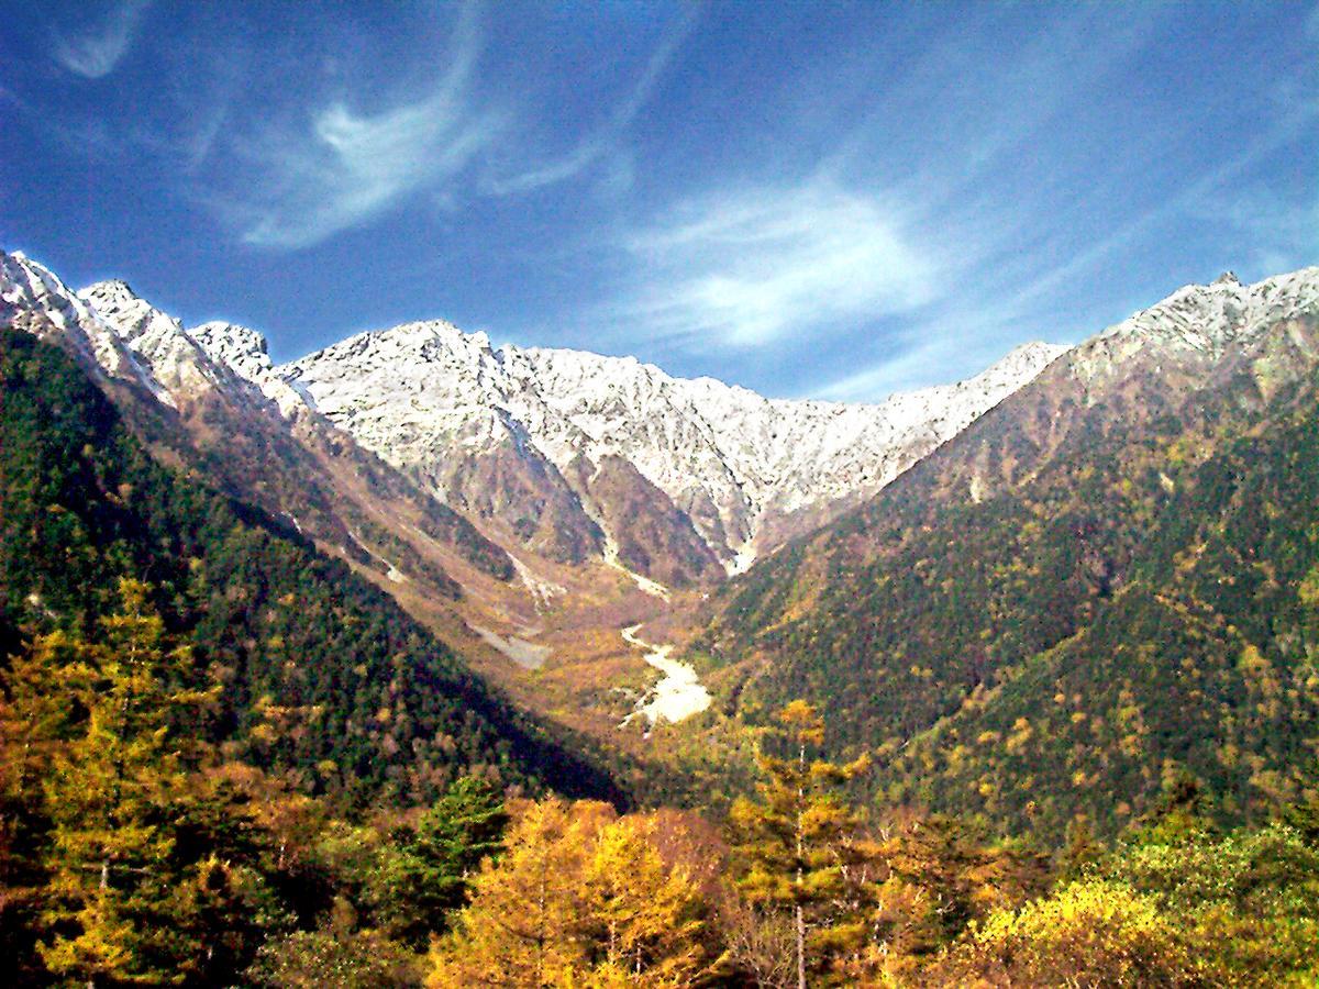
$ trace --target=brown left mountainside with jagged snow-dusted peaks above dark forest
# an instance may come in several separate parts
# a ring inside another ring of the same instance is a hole
[[[508,555],[466,518],[361,450],[277,377],[262,377],[269,359],[259,335],[227,324],[189,332],[123,282],[74,294],[21,255],[0,255],[0,324],[80,355],[158,455],[187,463],[381,583],[409,580],[429,597],[456,599],[464,584],[488,592],[513,579]]]

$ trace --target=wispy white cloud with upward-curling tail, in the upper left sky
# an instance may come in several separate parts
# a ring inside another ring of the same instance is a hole
[[[309,127],[266,127],[236,141],[244,186],[218,196],[215,206],[249,244],[301,248],[413,193],[435,190],[503,127],[503,117],[476,108],[468,92],[479,49],[474,12],[464,8],[448,69],[426,95],[377,113],[335,102]]]

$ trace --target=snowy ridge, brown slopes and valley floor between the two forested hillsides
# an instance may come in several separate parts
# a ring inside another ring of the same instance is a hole
[[[629,746],[617,691],[646,690],[652,674],[621,630],[665,616],[679,629],[729,572],[860,504],[1060,351],[1030,344],[876,406],[496,349],[438,322],[276,367],[257,331],[185,330],[124,282],[75,293],[22,256],[3,265],[11,319],[95,342],[95,372],[140,380],[177,410],[219,483],[245,488],[277,444],[286,465],[273,476],[291,483],[261,480],[251,496],[520,703]],[[230,442],[253,433],[270,436],[266,452]],[[669,723],[704,709],[675,691]]]

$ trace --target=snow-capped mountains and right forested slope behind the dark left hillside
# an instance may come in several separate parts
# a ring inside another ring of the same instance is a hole
[[[1228,816],[1312,787],[1316,319],[1316,268],[1225,274],[848,405],[435,320],[276,365],[0,255],[0,324],[514,702],[630,744],[653,674],[620,629],[650,622],[715,699],[675,750],[807,698],[873,795],[1042,833],[1120,827],[1177,773]]]

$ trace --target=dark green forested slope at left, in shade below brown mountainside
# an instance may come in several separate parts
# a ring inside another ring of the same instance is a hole
[[[463,771],[617,798],[605,771],[474,676],[386,595],[257,509],[160,465],[57,347],[0,330],[0,647],[95,634],[145,578],[224,684],[215,731],[257,765],[367,799]]]

